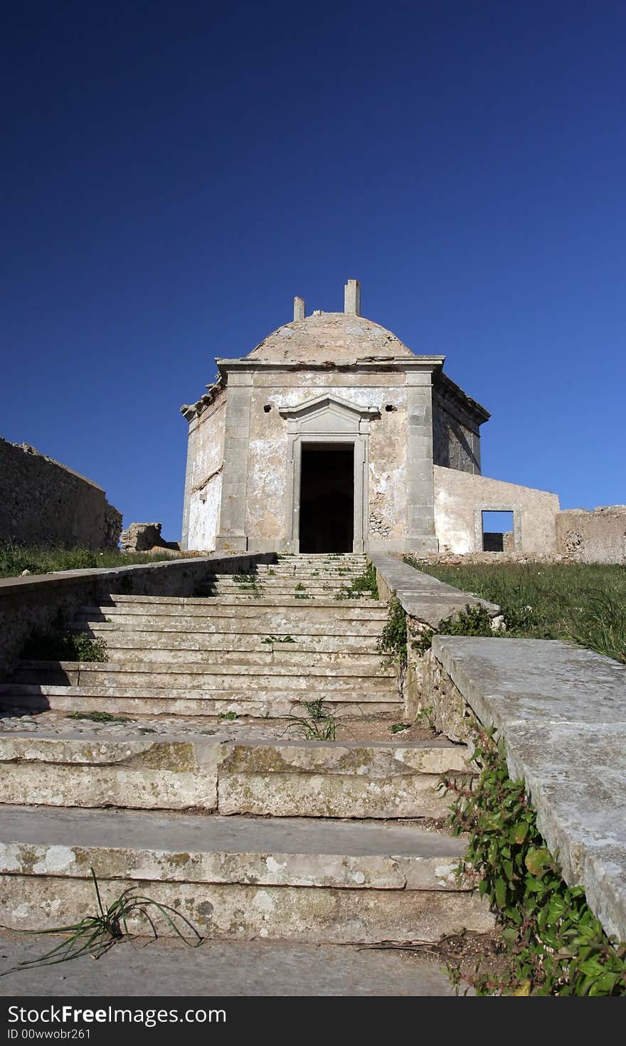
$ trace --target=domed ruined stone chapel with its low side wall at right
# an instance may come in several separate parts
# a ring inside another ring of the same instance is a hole
[[[483,514],[512,514],[511,549],[554,546],[558,498],[481,475],[487,410],[361,315],[294,319],[218,359],[189,423],[182,547],[209,551],[470,552]]]

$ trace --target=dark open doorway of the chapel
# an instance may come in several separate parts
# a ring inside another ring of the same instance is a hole
[[[354,543],[354,445],[303,444],[300,551],[351,552]]]

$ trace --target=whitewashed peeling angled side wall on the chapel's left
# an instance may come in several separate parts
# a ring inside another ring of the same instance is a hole
[[[227,391],[189,426],[181,546],[212,551],[219,525]]]

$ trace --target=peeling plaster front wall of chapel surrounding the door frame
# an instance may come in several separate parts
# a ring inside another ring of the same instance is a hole
[[[255,547],[284,539],[287,509],[287,423],[279,410],[317,396],[334,395],[360,407],[373,407],[368,462],[368,536],[401,543],[407,527],[407,388],[403,373],[354,374],[308,371],[276,377],[254,374],[250,412],[250,449],[246,487],[246,530]],[[269,411],[264,410],[270,407]],[[387,407],[392,409],[388,410]],[[323,437],[320,436],[320,441]]]

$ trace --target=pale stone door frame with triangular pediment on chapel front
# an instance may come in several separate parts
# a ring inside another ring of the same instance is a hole
[[[364,552],[369,521],[369,438],[374,407],[324,395],[280,410],[287,420],[287,479],[284,549],[300,551],[300,486],[303,444],[351,444],[354,448],[353,552]]]

